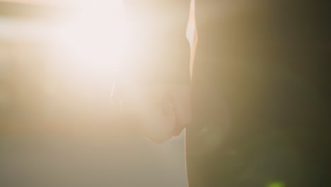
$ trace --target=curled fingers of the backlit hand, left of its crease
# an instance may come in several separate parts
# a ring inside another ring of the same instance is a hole
[[[148,87],[128,92],[127,95],[123,108],[131,113],[131,120],[134,120],[134,126],[141,135],[158,143],[173,136],[175,111],[170,101],[165,99],[163,89]]]

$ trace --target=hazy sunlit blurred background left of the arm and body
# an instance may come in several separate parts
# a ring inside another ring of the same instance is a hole
[[[110,103],[121,8],[0,1],[1,187],[186,186],[184,133],[157,145]]]

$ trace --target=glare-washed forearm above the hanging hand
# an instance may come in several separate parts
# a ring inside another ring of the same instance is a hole
[[[191,52],[185,38],[190,3],[141,2],[141,6],[124,4],[123,78],[129,84],[190,84]]]

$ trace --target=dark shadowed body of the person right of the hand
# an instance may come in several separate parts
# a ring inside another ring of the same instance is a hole
[[[196,1],[190,187],[330,183],[326,1]]]

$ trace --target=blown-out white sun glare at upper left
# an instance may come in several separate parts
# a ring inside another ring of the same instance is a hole
[[[119,11],[122,7],[115,8],[108,1],[82,2],[71,6],[64,21],[57,23],[54,42],[65,55],[79,62],[91,61],[93,65],[115,60],[123,38]]]

